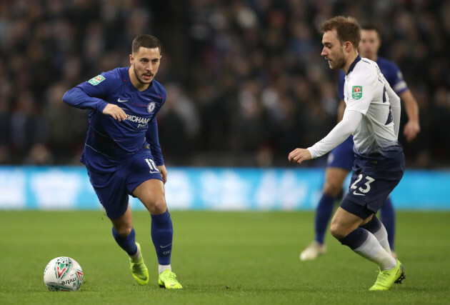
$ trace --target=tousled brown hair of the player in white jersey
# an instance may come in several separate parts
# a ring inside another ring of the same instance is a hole
[[[324,21],[321,26],[321,32],[336,30],[337,36],[341,44],[350,41],[355,48],[358,48],[361,41],[361,26],[353,17],[336,16]]]

